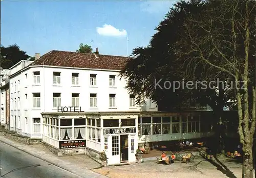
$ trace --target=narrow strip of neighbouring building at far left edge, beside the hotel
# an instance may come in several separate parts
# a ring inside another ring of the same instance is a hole
[[[1,68],[0,70],[0,123],[9,129],[10,118],[10,94],[9,94],[9,78],[10,70]]]

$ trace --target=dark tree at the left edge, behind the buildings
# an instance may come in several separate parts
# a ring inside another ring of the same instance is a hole
[[[9,69],[20,60],[28,60],[29,57],[25,51],[20,50],[17,44],[12,44],[7,48],[1,46],[1,67],[3,69]]]

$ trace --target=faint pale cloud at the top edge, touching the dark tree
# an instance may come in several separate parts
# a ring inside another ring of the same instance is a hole
[[[147,13],[167,13],[175,3],[176,1],[143,1],[140,8]]]

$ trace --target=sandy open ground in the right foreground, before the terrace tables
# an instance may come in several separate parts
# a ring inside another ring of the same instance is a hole
[[[157,164],[155,159],[141,164],[103,167],[95,171],[111,178],[239,178],[242,176],[242,164],[227,160],[225,157],[218,159],[221,164],[217,161],[212,164],[198,156],[194,163],[177,162],[171,165]]]

